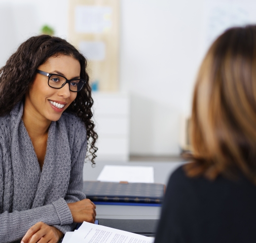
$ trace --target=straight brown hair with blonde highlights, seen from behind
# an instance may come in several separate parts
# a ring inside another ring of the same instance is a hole
[[[242,172],[256,183],[256,26],[228,29],[210,47],[197,77],[188,176]]]

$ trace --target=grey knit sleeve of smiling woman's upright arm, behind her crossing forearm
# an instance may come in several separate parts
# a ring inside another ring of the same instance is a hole
[[[86,129],[84,124],[78,121],[79,126],[75,132],[75,142],[72,148],[71,154],[71,171],[70,171],[70,179],[69,185],[67,189],[67,193],[65,195],[66,203],[75,203],[76,201],[85,199],[86,196],[82,192],[83,190],[83,168],[84,161],[86,156],[86,145],[87,145],[87,137],[86,137]],[[61,232],[66,233],[67,231],[73,231],[77,223],[72,223],[69,225],[53,225]]]

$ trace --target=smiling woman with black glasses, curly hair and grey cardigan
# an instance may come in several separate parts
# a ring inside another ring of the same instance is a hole
[[[39,35],[0,69],[0,242],[58,242],[95,221],[82,192],[97,150],[86,65],[64,39]]]

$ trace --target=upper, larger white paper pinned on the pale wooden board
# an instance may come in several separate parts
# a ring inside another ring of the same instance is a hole
[[[100,6],[77,6],[75,30],[80,33],[103,33],[112,26],[112,8]]]

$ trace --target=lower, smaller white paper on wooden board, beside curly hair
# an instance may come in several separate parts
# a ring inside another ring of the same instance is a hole
[[[104,42],[80,42],[80,52],[89,60],[102,61],[105,59]]]

